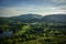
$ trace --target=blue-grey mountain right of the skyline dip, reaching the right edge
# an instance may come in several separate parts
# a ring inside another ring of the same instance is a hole
[[[50,14],[42,18],[42,22],[66,22],[66,14]]]

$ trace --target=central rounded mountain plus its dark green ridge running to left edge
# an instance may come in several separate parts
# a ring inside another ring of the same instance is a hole
[[[18,16],[11,16],[11,18],[0,18],[0,24],[1,23],[32,23],[32,22],[40,22],[43,16],[38,14],[21,14]]]

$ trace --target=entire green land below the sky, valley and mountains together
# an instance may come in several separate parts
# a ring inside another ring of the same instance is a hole
[[[0,18],[0,44],[66,43],[66,20],[64,18],[66,15],[58,14],[58,18],[57,14],[53,14],[44,18],[37,14],[25,14],[20,16]]]

